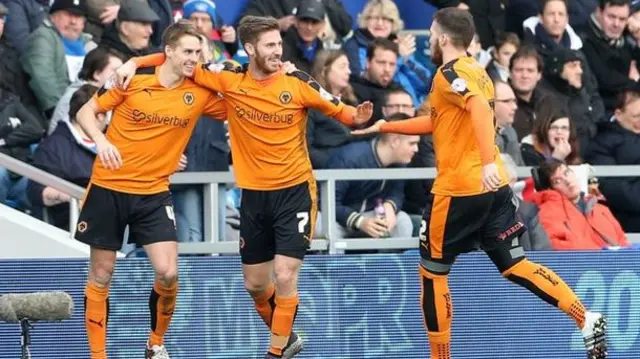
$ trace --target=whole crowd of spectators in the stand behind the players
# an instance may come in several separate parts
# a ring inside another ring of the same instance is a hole
[[[640,232],[640,181],[577,169],[640,164],[640,1],[427,2],[474,17],[468,51],[494,81],[496,143],[529,228],[524,248],[630,246],[625,232]],[[437,69],[417,52],[427,40],[403,31],[392,0],[368,1],[357,18],[340,0],[250,0],[247,14],[277,18],[282,60],[347,104],[373,102],[372,121],[429,114]],[[0,0],[0,151],[87,186],[96,149],[76,113],[124,61],[158,51],[163,29],[180,18],[209,40],[203,62],[247,61],[214,0]],[[105,128],[109,117],[100,119]],[[314,110],[307,126],[315,169],[435,166],[430,136],[356,137]],[[176,171],[227,171],[231,159],[225,123],[204,118]],[[533,176],[518,180],[516,166],[535,167]],[[335,235],[416,236],[430,187],[427,180],[338,183]],[[222,189],[220,235],[237,240],[241,193]],[[203,241],[201,187],[176,185],[172,193],[179,241]],[[46,212],[66,228],[69,200],[0,168],[1,203]]]

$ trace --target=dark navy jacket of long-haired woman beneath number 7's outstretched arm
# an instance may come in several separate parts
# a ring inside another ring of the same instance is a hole
[[[309,110],[307,120],[307,146],[314,169],[326,168],[331,155],[351,141],[351,129],[340,121]]]

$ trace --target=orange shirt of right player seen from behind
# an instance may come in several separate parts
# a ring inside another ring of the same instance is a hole
[[[480,96],[494,107],[494,89],[485,69],[465,56],[440,67],[429,95],[429,113],[433,123],[433,147],[438,176],[432,193],[444,196],[471,196],[483,193],[482,160],[467,100]],[[494,123],[493,116],[487,121]],[[494,163],[507,184],[507,174],[494,146]]]

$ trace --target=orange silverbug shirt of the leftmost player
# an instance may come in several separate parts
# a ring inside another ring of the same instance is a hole
[[[113,110],[106,137],[120,152],[123,165],[109,170],[96,159],[91,183],[131,194],[167,191],[169,176],[176,171],[199,117],[204,113],[225,119],[218,94],[188,78],[177,87],[163,87],[156,69],[138,70],[126,90],[108,81],[94,95],[99,112]]]

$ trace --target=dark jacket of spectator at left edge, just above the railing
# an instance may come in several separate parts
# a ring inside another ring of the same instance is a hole
[[[29,147],[40,142],[44,129],[40,120],[27,110],[16,96],[0,90],[0,101],[0,128],[7,129],[11,117],[18,118],[21,122],[20,126],[13,130],[1,131],[5,132],[0,136],[5,144],[0,146],[0,152],[26,162],[30,155]]]

